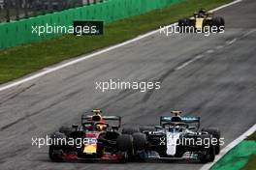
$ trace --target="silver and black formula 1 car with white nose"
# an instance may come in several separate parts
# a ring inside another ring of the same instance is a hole
[[[124,128],[124,133],[140,139],[134,144],[135,156],[149,159],[192,159],[213,161],[220,152],[220,132],[217,128],[200,127],[200,117],[161,116],[160,126]]]

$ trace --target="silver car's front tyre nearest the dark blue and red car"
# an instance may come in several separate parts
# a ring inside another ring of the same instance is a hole
[[[142,132],[133,133],[133,147],[134,151],[143,151],[145,149],[146,137]]]

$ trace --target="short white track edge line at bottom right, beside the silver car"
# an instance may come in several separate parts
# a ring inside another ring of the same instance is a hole
[[[238,145],[242,140],[244,140],[247,136],[252,134],[254,131],[256,131],[256,124],[249,128],[247,131],[242,133],[240,137],[232,141],[228,146],[226,146],[224,149],[221,150],[220,154],[215,157],[215,160],[213,162],[205,164],[200,170],[208,170],[214,163],[216,163],[222,156],[227,154],[232,148],[234,148],[236,145]]]

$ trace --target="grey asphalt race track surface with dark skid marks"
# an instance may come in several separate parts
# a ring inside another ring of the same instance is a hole
[[[255,9],[256,1],[244,0],[218,11],[225,34],[155,34],[0,92],[0,169],[199,169],[203,164],[186,161],[54,163],[48,147],[31,146],[31,138],[80,123],[92,108],[121,115],[124,125],[158,124],[176,109],[220,128],[229,144],[256,123]],[[111,78],[162,83],[145,93],[95,90],[96,81]]]

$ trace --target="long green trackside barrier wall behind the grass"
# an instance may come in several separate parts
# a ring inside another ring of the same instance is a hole
[[[56,34],[38,36],[32,34],[32,26],[61,25],[71,26],[73,20],[114,20],[170,6],[181,0],[108,0],[103,3],[69,9],[53,14],[39,15],[18,21],[0,23],[0,49],[17,44],[57,37]]]

